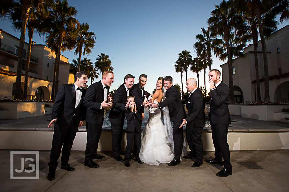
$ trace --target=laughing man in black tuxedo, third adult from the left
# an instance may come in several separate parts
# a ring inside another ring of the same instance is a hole
[[[128,108],[126,102],[127,96],[130,96],[130,88],[133,86],[134,77],[127,74],[124,78],[124,84],[120,85],[114,93],[114,105],[109,112],[109,121],[111,122],[112,152],[116,161],[124,161],[119,156],[121,152],[121,141],[123,133],[123,124],[125,123],[124,110]]]

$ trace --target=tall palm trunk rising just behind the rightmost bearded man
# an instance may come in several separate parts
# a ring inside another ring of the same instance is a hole
[[[232,69],[233,57],[231,55],[231,50],[230,50],[230,45],[229,45],[229,30],[228,29],[226,30],[224,34],[224,40],[226,42],[227,57],[228,57],[229,88],[230,88],[229,102],[234,103],[235,99],[234,99],[233,69]]]

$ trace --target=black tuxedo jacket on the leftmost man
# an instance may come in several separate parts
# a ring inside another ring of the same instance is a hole
[[[73,115],[75,115],[75,123],[79,125],[83,121],[85,115],[85,107],[83,106],[83,97],[86,90],[82,91],[80,104],[75,108],[75,86],[73,84],[61,85],[55,97],[52,107],[52,119],[57,119],[58,125],[68,126],[71,123]]]

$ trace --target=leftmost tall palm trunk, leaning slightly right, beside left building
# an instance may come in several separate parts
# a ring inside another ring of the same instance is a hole
[[[30,11],[30,7],[28,6],[28,0],[25,0],[22,6],[22,27],[21,27],[21,35],[19,42],[19,50],[18,50],[18,60],[17,60],[17,75],[16,75],[16,90],[15,90],[15,99],[21,99],[21,78],[22,78],[22,58],[23,58],[23,50],[24,50],[24,41],[25,41],[25,32],[26,32],[26,24],[28,20],[28,15]]]

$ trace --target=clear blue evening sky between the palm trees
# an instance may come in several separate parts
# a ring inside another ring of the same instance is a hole
[[[80,23],[88,23],[90,31],[96,34],[96,44],[90,55],[83,57],[94,63],[97,55],[109,55],[114,68],[114,82],[110,90],[117,89],[123,83],[126,74],[135,76],[138,82],[140,74],[147,75],[145,90],[152,93],[156,87],[158,77],[170,75],[173,84],[181,86],[180,73],[175,72],[175,61],[182,50],[191,52],[196,57],[193,48],[196,42],[195,35],[201,33],[201,28],[207,28],[207,19],[211,16],[215,4],[221,0],[105,0],[79,1],[68,0],[69,5],[75,6]],[[287,23],[280,24],[282,28]],[[9,20],[0,20],[0,28],[20,38],[20,32],[15,32]],[[25,41],[28,41],[26,32]],[[43,37],[34,35],[33,41],[45,44]],[[66,51],[69,63],[77,59],[74,51]],[[212,69],[222,72],[220,61],[213,55]],[[209,68],[206,69],[206,88]],[[197,74],[188,72],[188,78],[197,79]],[[100,78],[94,80],[99,81]],[[200,86],[204,86],[203,70],[199,72]],[[221,78],[222,80],[222,78]],[[185,91],[186,77],[183,75]],[[90,85],[90,81],[88,81]]]

